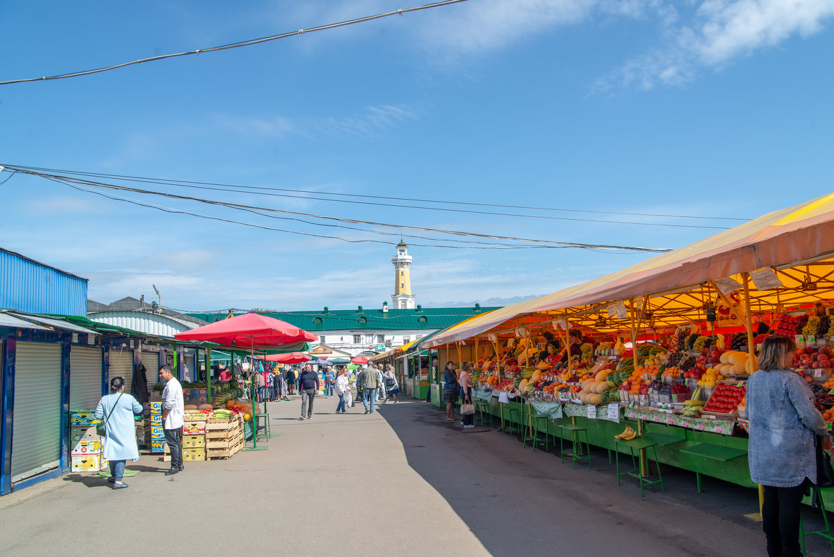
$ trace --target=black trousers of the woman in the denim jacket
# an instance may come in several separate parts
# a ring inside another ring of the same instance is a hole
[[[798,557],[799,509],[810,479],[790,488],[765,485],[765,501],[761,506],[762,529],[767,539],[768,557]]]

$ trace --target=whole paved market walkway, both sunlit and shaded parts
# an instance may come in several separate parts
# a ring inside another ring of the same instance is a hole
[[[130,487],[69,474],[0,498],[0,554],[286,554],[737,557],[764,554],[756,494],[670,470],[666,493],[617,488],[594,469],[523,448],[493,429],[460,429],[430,404],[333,413],[316,399],[270,403],[269,449],[167,466],[143,457]],[[326,410],[326,412],[325,412]],[[806,513],[806,521],[818,518]],[[809,544],[809,555],[831,554]]]

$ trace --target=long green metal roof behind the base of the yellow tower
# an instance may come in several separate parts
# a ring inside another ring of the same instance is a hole
[[[360,306],[361,308],[361,306]],[[261,315],[281,319],[300,329],[320,331],[404,331],[420,329],[445,329],[464,319],[497,308],[421,308],[417,309],[335,309],[313,311],[258,312]],[[219,314],[188,314],[213,323],[223,319]]]

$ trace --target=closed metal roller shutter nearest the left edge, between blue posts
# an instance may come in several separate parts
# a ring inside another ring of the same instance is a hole
[[[12,481],[60,464],[61,345],[18,343],[14,369]]]

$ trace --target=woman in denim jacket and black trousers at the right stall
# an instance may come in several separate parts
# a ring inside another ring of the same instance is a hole
[[[793,340],[768,337],[761,369],[747,380],[747,456],[751,479],[765,490],[761,518],[770,557],[801,555],[799,509],[806,488],[816,483],[815,435],[828,431],[805,379],[790,369],[795,353]]]

